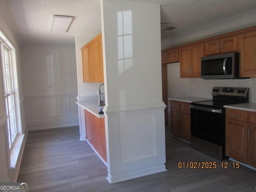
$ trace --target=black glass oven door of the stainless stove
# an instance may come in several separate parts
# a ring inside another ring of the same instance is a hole
[[[225,141],[225,112],[191,106],[191,135],[219,146]]]

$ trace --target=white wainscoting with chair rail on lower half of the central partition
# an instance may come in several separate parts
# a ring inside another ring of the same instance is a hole
[[[105,106],[108,181],[165,171],[163,102]]]

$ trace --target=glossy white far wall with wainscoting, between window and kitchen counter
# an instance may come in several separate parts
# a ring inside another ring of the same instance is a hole
[[[22,63],[28,130],[78,125],[74,44],[24,44]]]

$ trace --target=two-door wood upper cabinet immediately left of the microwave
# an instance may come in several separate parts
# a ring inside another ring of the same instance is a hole
[[[201,57],[204,56],[204,43],[192,44],[179,49],[180,77],[200,78]]]

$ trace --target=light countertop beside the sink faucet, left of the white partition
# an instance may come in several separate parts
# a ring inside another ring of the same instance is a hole
[[[104,118],[104,114],[99,114],[98,96],[84,97],[83,100],[76,102],[82,108],[88,110],[98,118]],[[103,110],[102,106],[102,110]]]

